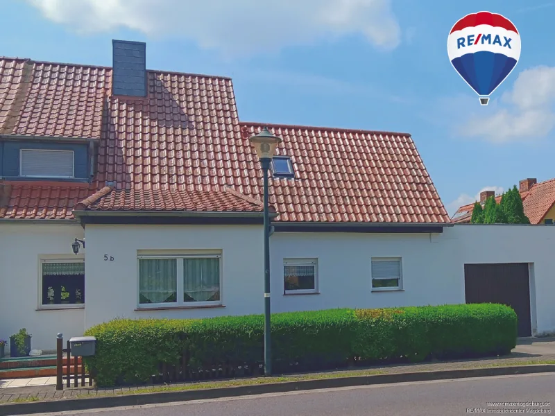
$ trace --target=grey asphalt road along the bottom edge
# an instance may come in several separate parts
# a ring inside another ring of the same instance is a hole
[[[542,402],[524,406],[488,402]],[[549,402],[546,404],[545,402]],[[547,415],[555,413],[555,373],[499,376],[452,381],[399,383],[311,392],[280,393],[180,404],[114,408],[94,412],[56,413],[91,416],[451,416],[491,413]],[[488,412],[488,409],[490,410]],[[535,410],[530,412],[530,410]],[[50,415],[55,415],[51,413]]]

